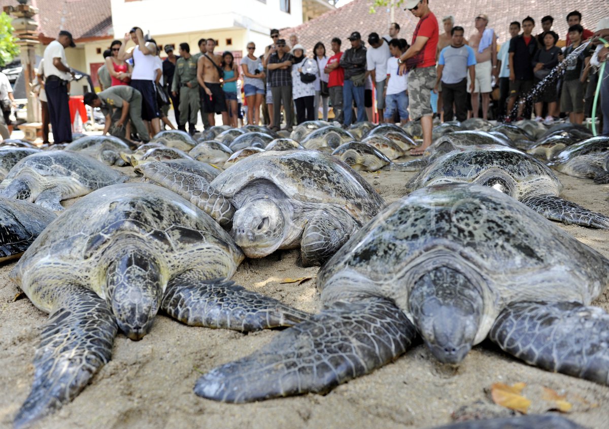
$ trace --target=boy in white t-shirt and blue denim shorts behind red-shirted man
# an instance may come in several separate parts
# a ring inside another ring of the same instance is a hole
[[[398,58],[402,55],[401,43],[398,39],[389,41],[389,52],[392,57],[387,60],[387,82],[385,83],[385,123],[393,122],[393,114],[400,113],[401,124],[408,122],[408,74],[398,74],[400,65]]]

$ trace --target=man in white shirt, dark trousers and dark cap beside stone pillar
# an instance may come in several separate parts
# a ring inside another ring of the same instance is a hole
[[[57,40],[44,49],[44,90],[55,143],[72,141],[68,81],[74,77],[74,72],[66,61],[65,48],[68,46],[76,47],[76,44],[72,34],[62,30]]]

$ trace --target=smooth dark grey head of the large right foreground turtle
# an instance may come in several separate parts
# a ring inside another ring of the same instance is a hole
[[[439,361],[459,363],[465,358],[484,308],[476,285],[452,268],[435,268],[415,282],[409,307],[421,337]]]

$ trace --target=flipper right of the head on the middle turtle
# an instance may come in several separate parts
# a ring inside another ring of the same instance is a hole
[[[334,212],[312,217],[305,225],[300,240],[300,254],[305,267],[321,265],[330,259],[350,237],[347,231],[356,229],[347,215]]]

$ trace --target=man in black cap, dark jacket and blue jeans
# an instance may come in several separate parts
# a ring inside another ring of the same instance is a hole
[[[354,31],[348,37],[350,49],[340,57],[339,65],[345,69],[343,82],[343,125],[351,125],[353,117],[353,99],[357,105],[357,122],[366,120],[364,92],[366,81],[366,48],[362,44],[359,32]]]

